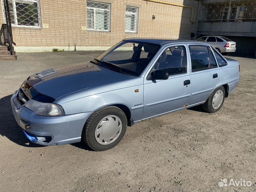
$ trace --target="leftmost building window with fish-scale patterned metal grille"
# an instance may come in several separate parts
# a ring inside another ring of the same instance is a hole
[[[11,24],[41,28],[39,0],[8,0]]]

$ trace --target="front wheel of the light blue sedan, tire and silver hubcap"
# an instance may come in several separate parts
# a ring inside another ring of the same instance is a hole
[[[105,151],[123,139],[126,129],[127,118],[124,112],[116,106],[108,106],[89,117],[81,136],[92,150]]]

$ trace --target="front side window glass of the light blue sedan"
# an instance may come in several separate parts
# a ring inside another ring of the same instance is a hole
[[[186,49],[184,46],[175,46],[165,49],[155,63],[151,72],[165,70],[169,75],[187,73]],[[152,73],[151,73],[152,75]]]

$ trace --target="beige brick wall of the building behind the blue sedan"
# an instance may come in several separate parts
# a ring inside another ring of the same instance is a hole
[[[142,0],[107,1],[112,2],[111,32],[81,29],[87,25],[85,0],[40,0],[42,28],[12,27],[16,47],[68,47],[68,44],[74,46],[74,42],[77,47],[108,47],[130,37],[177,39],[190,38],[191,33],[196,33],[197,22],[191,22],[191,9]],[[193,20],[197,19],[199,1],[165,1],[192,6]],[[139,7],[135,34],[124,32],[126,5],[130,4]],[[43,24],[49,24],[49,28],[43,28]]]

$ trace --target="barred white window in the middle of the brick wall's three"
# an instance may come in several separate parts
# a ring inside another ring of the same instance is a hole
[[[110,4],[87,1],[87,30],[110,31]]]

